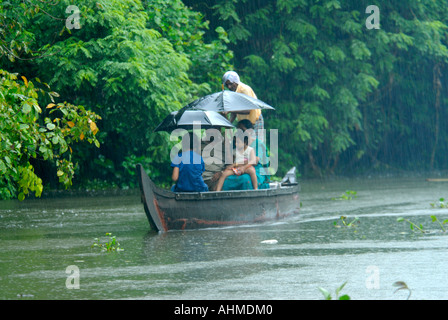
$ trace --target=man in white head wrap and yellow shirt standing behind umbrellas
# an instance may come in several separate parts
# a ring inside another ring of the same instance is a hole
[[[244,93],[250,97],[257,99],[255,92],[247,84],[240,81],[239,75],[235,71],[227,71],[222,77],[223,89],[226,86],[229,90],[239,93]],[[261,130],[264,129],[263,115],[261,109],[247,110],[232,112],[230,116],[230,122],[233,122],[235,118],[238,121],[248,119],[254,126],[254,131],[257,133],[258,139],[263,141],[264,135]]]

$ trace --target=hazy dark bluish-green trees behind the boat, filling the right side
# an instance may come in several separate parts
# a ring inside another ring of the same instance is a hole
[[[372,30],[368,1],[208,3],[242,81],[276,107],[265,126],[288,133],[281,169],[446,169],[446,2],[382,2]]]

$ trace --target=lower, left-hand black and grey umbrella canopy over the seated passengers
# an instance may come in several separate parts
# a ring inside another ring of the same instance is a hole
[[[188,110],[183,107],[179,111],[171,112],[154,130],[173,131],[175,129],[192,130],[194,126],[200,125],[201,128],[234,128],[234,126],[214,111]]]

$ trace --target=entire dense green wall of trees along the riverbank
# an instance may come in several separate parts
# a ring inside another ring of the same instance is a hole
[[[374,5],[378,10],[369,9]],[[170,178],[171,111],[237,71],[278,176],[448,169],[448,1],[0,4],[0,199]]]

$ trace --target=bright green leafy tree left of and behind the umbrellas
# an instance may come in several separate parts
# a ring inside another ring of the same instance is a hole
[[[100,149],[73,146],[79,183],[133,186],[135,159],[156,180],[169,179],[169,136],[152,131],[171,111],[220,90],[232,59],[225,30],[216,27],[206,39],[208,21],[180,0],[78,1],[80,29],[71,30],[65,27],[71,1],[33,2],[32,12],[19,0],[10,3],[0,5],[2,21],[20,26],[33,50],[21,45],[14,64],[0,59],[0,66],[45,79],[102,118]],[[17,46],[9,32],[2,39],[0,45]]]

